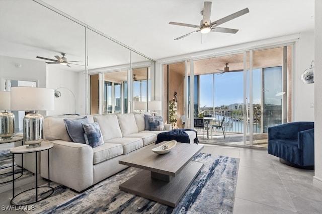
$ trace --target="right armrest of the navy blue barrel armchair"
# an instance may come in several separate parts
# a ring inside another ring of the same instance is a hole
[[[302,151],[303,166],[314,165],[314,129],[298,132],[297,146]]]

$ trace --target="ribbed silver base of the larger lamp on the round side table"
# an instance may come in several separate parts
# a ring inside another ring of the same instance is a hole
[[[34,148],[41,145],[43,141],[44,118],[38,112],[32,112],[24,118],[24,143],[27,148]]]

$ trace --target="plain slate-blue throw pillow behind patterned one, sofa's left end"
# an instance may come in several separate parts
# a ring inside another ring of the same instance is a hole
[[[84,129],[82,124],[88,124],[89,120],[85,116],[78,119],[64,119],[67,133],[70,139],[75,143],[86,143],[84,138]]]

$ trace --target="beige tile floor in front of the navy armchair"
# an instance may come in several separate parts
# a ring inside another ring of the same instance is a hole
[[[240,158],[233,214],[322,213],[322,190],[312,185],[313,170],[286,166],[266,149],[204,144],[202,152]],[[0,213],[24,213],[2,210],[12,191],[0,195]]]

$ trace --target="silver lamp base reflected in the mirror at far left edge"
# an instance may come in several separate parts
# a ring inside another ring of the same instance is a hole
[[[11,112],[0,112],[0,141],[12,139],[15,134],[15,115]]]

